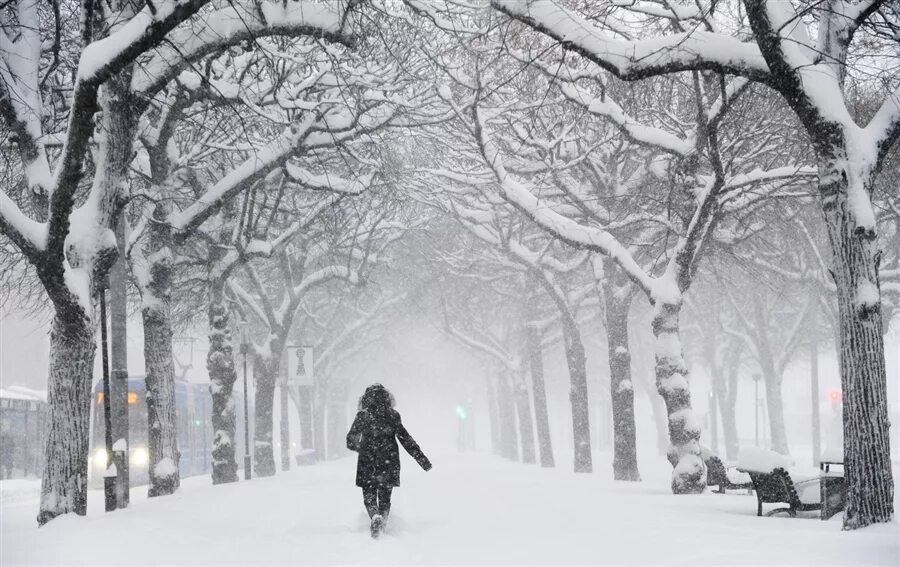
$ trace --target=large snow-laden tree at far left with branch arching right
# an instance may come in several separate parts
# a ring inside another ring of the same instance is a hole
[[[141,106],[186,66],[253,35],[349,42],[352,23],[344,3],[173,0],[51,8],[60,10],[50,19],[56,26],[48,28],[41,24],[47,8],[39,2],[8,4],[0,32],[0,114],[16,132],[24,193],[31,197],[23,210],[23,192],[0,193],[0,230],[34,266],[54,308],[40,524],[86,510],[93,296],[118,254],[111,227],[127,199]],[[77,26],[62,25],[63,8]],[[63,28],[72,46],[65,64],[54,34],[63,35]],[[56,96],[60,91],[45,80],[62,70],[68,71],[68,97]],[[48,130],[60,125],[59,114],[65,125]],[[51,115],[56,119],[48,120]],[[48,136],[62,141],[55,154],[47,151]],[[88,151],[92,168],[85,167]]]

